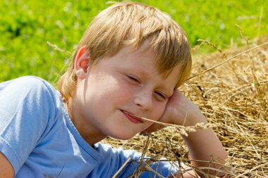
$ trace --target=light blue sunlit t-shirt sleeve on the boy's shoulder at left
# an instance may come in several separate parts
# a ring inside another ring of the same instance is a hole
[[[0,151],[15,173],[25,163],[56,113],[53,88],[37,77],[0,84]]]

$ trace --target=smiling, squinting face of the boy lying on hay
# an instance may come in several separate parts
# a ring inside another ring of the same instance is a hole
[[[74,116],[84,123],[82,132],[103,139],[130,139],[153,122],[128,113],[159,120],[176,87],[180,68],[163,78],[152,50],[144,51],[146,46],[137,51],[125,47],[115,56],[105,56],[97,65],[89,66],[85,78],[78,81],[75,103]]]

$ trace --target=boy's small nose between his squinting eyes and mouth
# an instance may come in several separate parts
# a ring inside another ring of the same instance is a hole
[[[136,94],[133,98],[133,102],[136,106],[142,110],[151,110],[152,108],[152,92],[143,91]]]

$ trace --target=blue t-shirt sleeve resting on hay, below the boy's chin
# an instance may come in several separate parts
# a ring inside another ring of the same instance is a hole
[[[90,177],[113,177],[124,163],[130,161],[118,172],[116,177],[167,177],[175,174],[178,169],[176,163],[166,159],[143,157],[141,153],[123,148],[111,148],[107,144],[97,144],[97,151],[102,155],[99,166],[90,174]]]

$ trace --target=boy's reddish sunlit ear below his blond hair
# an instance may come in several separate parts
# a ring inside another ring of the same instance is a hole
[[[86,46],[81,47],[75,56],[74,71],[78,79],[83,80],[87,76],[90,63],[90,50]]]

